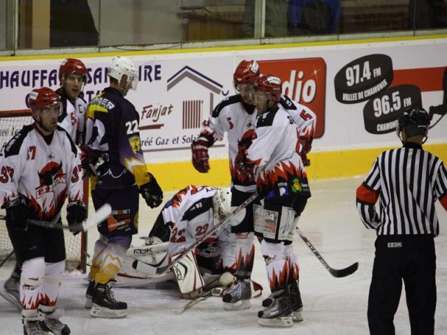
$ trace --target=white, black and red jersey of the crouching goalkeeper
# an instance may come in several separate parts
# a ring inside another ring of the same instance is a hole
[[[207,186],[186,186],[177,192],[163,208],[162,215],[165,224],[171,224],[168,253],[175,255],[181,253],[198,239],[207,234],[214,227],[214,213],[212,197],[217,188]],[[220,244],[235,243],[235,234],[230,227],[212,234],[206,241],[219,239]],[[232,267],[235,262],[235,253],[228,253],[221,248],[223,267]]]

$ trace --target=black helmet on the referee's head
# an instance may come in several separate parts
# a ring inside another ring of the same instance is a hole
[[[405,129],[406,137],[423,135],[425,136],[425,140],[427,140],[429,126],[430,115],[426,110],[420,107],[409,107],[397,120],[396,133],[402,140],[401,133]]]

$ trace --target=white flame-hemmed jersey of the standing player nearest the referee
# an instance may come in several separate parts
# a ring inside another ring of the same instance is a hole
[[[261,196],[310,196],[305,167],[297,153],[299,138],[298,124],[281,102],[256,120],[253,142],[245,153],[249,163],[256,165],[256,187]]]

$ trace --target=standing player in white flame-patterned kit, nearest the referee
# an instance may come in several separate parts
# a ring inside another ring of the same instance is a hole
[[[236,168],[254,164],[256,189],[263,205],[254,205],[254,230],[262,234],[261,251],[272,299],[258,313],[258,323],[291,327],[302,320],[298,290],[298,260],[293,253],[295,225],[310,197],[300,151],[298,125],[280,103],[281,80],[272,75],[255,82],[256,130],[250,147],[242,151]],[[305,119],[305,115],[302,116]],[[296,313],[293,313],[296,312]]]

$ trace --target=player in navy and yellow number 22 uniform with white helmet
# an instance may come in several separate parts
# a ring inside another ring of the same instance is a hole
[[[127,304],[112,293],[132,235],[138,232],[138,194],[151,208],[158,207],[163,192],[155,177],[147,172],[140,147],[140,117],[124,96],[136,89],[138,70],[126,57],[114,57],[108,68],[110,87],[98,94],[87,107],[85,144],[98,177],[91,177],[91,198],[97,209],[108,203],[112,215],[98,225],[100,237],[94,246],[86,307],[90,315],[123,318]],[[99,159],[101,158],[101,160]],[[92,305],[91,305],[92,301]]]

